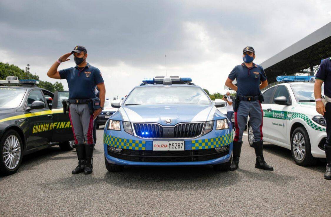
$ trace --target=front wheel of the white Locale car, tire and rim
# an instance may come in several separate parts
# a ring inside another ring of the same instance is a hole
[[[304,127],[298,127],[294,130],[291,137],[291,153],[296,164],[300,166],[316,164],[317,158],[311,155],[310,139]]]

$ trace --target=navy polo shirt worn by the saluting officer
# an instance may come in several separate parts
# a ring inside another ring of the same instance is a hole
[[[75,66],[60,70],[59,74],[61,79],[67,79],[71,99],[95,98],[95,86],[104,82],[100,70],[89,63],[83,69]]]

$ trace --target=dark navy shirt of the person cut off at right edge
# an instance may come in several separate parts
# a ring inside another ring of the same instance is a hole
[[[331,97],[331,57],[322,60],[315,79],[324,81],[324,94]]]

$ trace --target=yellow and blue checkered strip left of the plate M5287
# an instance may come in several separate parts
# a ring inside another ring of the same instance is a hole
[[[145,150],[146,149],[146,141],[144,140],[134,140],[134,139],[125,139],[119,138],[116,136],[110,136],[104,134],[104,143],[113,146],[116,148],[124,148],[131,150]]]

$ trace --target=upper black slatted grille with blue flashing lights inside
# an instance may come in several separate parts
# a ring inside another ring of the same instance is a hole
[[[171,127],[133,123],[133,129],[136,135],[142,138],[194,138],[202,134],[204,122],[183,123]]]

